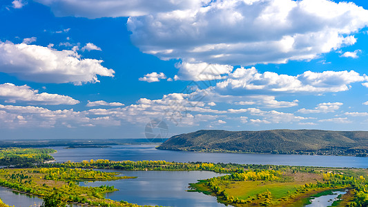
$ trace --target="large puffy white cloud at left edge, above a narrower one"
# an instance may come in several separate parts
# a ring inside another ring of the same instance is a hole
[[[99,82],[97,75],[113,77],[115,71],[97,59],[81,59],[72,50],[0,41],[0,72],[41,83]]]

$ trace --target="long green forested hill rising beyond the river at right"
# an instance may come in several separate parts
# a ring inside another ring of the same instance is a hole
[[[327,130],[199,130],[176,135],[157,148],[212,152],[266,152],[367,156],[368,132]]]

